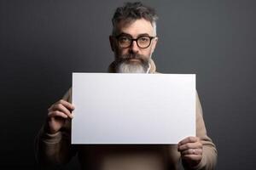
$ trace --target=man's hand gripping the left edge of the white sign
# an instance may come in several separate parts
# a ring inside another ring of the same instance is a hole
[[[57,133],[63,127],[68,118],[72,119],[74,106],[71,103],[61,99],[48,109],[48,133]]]

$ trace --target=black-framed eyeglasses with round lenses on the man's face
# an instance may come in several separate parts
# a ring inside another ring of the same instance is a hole
[[[153,38],[154,37],[150,36],[141,36],[134,39],[132,37],[124,35],[119,35],[116,37],[117,41],[119,42],[120,48],[130,48],[133,41],[137,42],[137,46],[139,48],[148,48]]]

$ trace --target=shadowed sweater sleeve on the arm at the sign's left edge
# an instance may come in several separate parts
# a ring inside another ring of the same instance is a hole
[[[71,101],[71,89],[62,98]],[[46,131],[46,123],[38,132],[35,139],[35,154],[40,167],[60,166],[72,158],[75,149],[71,144],[70,121],[65,122],[61,131],[50,134]]]

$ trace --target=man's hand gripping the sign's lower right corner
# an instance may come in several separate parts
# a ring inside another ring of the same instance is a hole
[[[183,163],[189,167],[195,167],[202,158],[201,139],[188,137],[177,144],[177,150],[181,153]]]

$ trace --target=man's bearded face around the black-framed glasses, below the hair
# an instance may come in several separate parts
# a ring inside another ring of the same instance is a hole
[[[116,37],[110,37],[111,48],[114,53],[117,72],[146,72],[149,66],[149,59],[154,52],[157,37],[154,35],[154,28],[148,20],[140,19],[131,23],[121,21],[117,26],[118,37],[137,39],[138,37],[154,37],[148,48],[140,48],[136,41],[131,46],[122,48]],[[124,39],[125,41],[125,39]],[[143,42],[143,39],[142,41]]]

